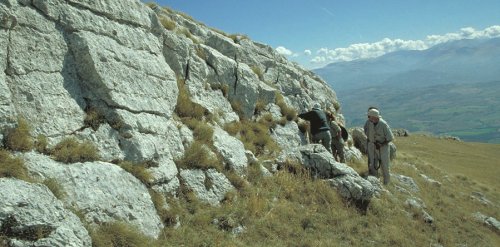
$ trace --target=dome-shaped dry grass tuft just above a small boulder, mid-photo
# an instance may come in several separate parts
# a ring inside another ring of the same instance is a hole
[[[180,168],[189,169],[209,169],[215,168],[217,170],[222,170],[221,162],[216,156],[212,155],[212,152],[207,145],[201,143],[200,141],[194,141],[185,151],[182,158],[175,161]]]

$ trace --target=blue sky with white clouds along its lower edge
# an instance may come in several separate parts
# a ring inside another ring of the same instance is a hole
[[[156,0],[245,34],[313,69],[336,61],[500,36],[500,0]]]

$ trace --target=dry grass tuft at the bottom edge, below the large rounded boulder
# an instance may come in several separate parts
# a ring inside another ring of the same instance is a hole
[[[154,241],[124,222],[104,223],[91,231],[94,247],[152,246]]]

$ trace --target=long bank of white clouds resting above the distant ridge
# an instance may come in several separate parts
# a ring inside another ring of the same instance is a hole
[[[458,33],[429,35],[425,40],[402,40],[385,38],[375,43],[352,44],[346,48],[320,48],[317,56],[311,59],[313,64],[326,64],[340,61],[373,58],[399,50],[425,50],[433,45],[460,39],[500,37],[500,26],[491,26],[484,30],[472,27],[462,28]]]

